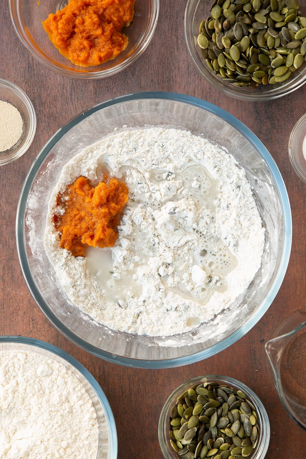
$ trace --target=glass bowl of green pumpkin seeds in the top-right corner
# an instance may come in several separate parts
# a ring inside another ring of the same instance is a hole
[[[305,1],[189,0],[184,29],[195,66],[227,95],[276,99],[306,82]]]

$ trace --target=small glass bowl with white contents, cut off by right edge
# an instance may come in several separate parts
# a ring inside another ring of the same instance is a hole
[[[303,155],[303,143],[306,138],[306,114],[299,119],[289,138],[289,159],[295,174],[306,183],[306,158]],[[306,152],[306,140],[304,143]]]

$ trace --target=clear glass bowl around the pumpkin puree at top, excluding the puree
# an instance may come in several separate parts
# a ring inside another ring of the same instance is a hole
[[[22,45],[40,63],[71,78],[106,78],[128,67],[144,52],[156,28],[159,0],[136,0],[134,18],[125,32],[128,47],[115,59],[96,67],[78,67],[52,45],[41,22],[67,5],[67,0],[10,0],[11,21]]]

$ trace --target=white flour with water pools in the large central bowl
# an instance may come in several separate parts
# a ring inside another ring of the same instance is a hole
[[[86,258],[59,246],[56,196],[100,170],[126,181],[118,239]],[[245,172],[190,132],[111,135],[63,168],[51,196],[45,248],[69,299],[114,330],[170,336],[207,322],[243,293],[261,266],[264,229]]]

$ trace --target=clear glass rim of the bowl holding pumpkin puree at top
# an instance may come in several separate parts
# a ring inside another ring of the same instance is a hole
[[[22,20],[19,15],[18,4],[21,0],[9,0],[9,9],[10,9],[10,16],[11,22],[13,24],[14,30],[17,34],[17,37],[21,41],[22,45],[29,51],[29,53],[41,64],[45,67],[49,68],[53,72],[59,73],[60,75],[70,77],[70,78],[78,78],[78,79],[97,79],[97,78],[107,78],[111,75],[115,75],[118,72],[121,72],[125,68],[127,68],[130,64],[136,61],[139,56],[145,51],[147,46],[149,45],[153,34],[156,29],[156,24],[159,15],[159,0],[150,0],[152,4],[152,14],[150,16],[149,26],[146,30],[145,37],[142,40],[141,45],[135,51],[133,51],[127,59],[123,62],[114,65],[111,68],[107,68],[105,70],[97,70],[96,72],[88,72],[82,67],[70,69],[68,67],[61,67],[57,63],[50,61],[44,57],[44,53],[39,53],[36,50],[36,46],[34,46],[31,40],[28,39],[27,34],[24,33],[22,27]]]

